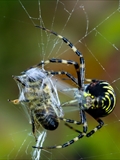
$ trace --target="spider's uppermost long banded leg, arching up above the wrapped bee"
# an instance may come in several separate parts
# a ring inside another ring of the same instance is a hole
[[[84,62],[84,58],[83,58],[82,53],[80,51],[78,51],[77,48],[67,38],[65,38],[65,37],[57,34],[56,32],[53,32],[45,27],[42,27],[42,26],[35,26],[35,27],[41,28],[49,33],[54,34],[58,38],[62,39],[63,42],[65,42],[73,50],[73,52],[76,53],[76,55],[78,55],[80,57],[80,67],[78,69],[76,69],[76,72],[77,72],[77,76],[78,76],[78,84],[79,84],[80,88],[84,88],[85,62]]]

